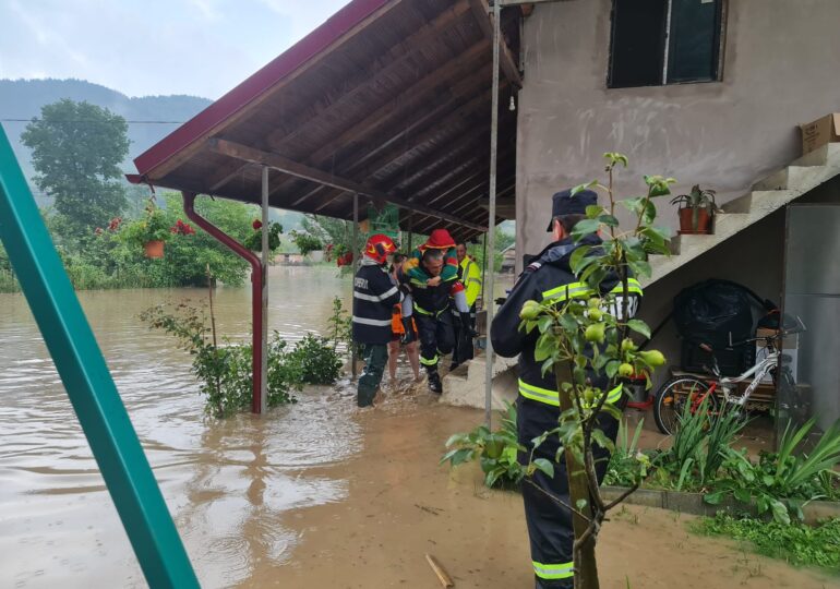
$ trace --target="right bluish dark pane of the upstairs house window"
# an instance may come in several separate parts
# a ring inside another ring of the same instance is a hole
[[[718,77],[720,0],[671,0],[668,82]]]

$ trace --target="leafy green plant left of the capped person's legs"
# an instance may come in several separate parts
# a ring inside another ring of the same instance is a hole
[[[505,404],[506,414],[502,428],[491,432],[487,425],[479,425],[469,433],[455,434],[446,441],[453,447],[441,458],[452,467],[479,459],[489,488],[515,489],[521,483],[525,470],[517,460],[517,453],[525,448],[519,445],[516,432],[516,407]]]

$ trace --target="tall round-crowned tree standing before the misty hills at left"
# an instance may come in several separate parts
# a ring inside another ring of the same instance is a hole
[[[119,165],[129,153],[128,130],[108,109],[62,99],[43,107],[21,134],[32,149],[34,181],[56,199],[67,231],[89,233],[125,206]]]

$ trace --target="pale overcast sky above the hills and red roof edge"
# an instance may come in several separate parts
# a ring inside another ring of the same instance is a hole
[[[0,0],[0,79],[218,98],[348,0]]]

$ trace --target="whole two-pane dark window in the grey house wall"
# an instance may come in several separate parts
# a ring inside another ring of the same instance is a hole
[[[613,0],[611,88],[718,80],[724,0]]]

